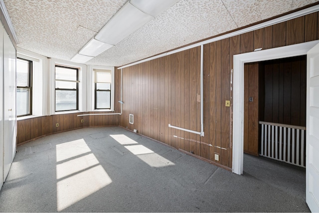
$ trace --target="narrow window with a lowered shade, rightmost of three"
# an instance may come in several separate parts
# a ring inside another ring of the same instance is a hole
[[[111,82],[111,70],[94,69],[94,109],[111,109]]]

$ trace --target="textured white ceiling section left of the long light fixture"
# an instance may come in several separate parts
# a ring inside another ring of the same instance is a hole
[[[4,0],[18,47],[69,60],[127,0]]]

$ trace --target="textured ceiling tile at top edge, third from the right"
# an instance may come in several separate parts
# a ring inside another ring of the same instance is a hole
[[[257,0],[222,0],[238,27],[261,20]]]

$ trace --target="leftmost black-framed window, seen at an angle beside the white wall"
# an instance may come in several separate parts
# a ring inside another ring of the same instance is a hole
[[[22,58],[16,60],[16,114],[32,114],[32,61]]]

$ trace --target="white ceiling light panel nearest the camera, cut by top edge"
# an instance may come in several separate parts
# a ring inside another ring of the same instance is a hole
[[[134,6],[153,17],[158,16],[177,1],[178,0],[130,0]]]

